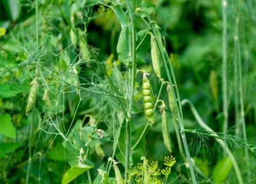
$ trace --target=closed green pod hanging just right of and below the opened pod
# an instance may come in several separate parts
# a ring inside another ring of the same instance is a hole
[[[165,103],[162,101],[162,105],[160,106],[160,112],[162,113],[162,134],[163,134],[163,142],[167,150],[172,153],[172,142],[170,140],[170,134],[168,129],[168,122],[165,112]]]

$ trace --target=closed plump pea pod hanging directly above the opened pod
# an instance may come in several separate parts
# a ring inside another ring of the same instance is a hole
[[[151,58],[152,58],[154,71],[157,77],[161,78],[159,50],[157,48],[156,38],[154,37],[153,34],[151,35]]]

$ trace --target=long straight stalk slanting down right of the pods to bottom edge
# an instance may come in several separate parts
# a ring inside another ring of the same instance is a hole
[[[148,17],[148,19],[150,19],[150,17]],[[157,37],[156,30],[155,30],[155,27],[153,26],[153,24],[151,24],[151,29],[152,29],[152,32],[153,32],[154,36]],[[157,42],[158,49],[160,51],[160,55],[161,55],[161,57],[163,59],[163,62],[164,62],[164,67],[165,67],[165,71],[166,71],[166,74],[167,74],[168,82],[170,83],[170,88],[172,88],[174,99],[176,99],[176,94],[175,94],[173,82],[172,82],[172,79],[170,78],[170,72],[169,72],[169,68],[167,66],[166,57],[165,57],[165,54],[164,54],[164,52],[166,52],[166,51],[165,51],[164,48],[161,47],[161,44],[160,44],[158,39],[156,39],[156,42]],[[172,70],[172,68],[171,68],[171,70]],[[173,73],[173,78],[174,78],[174,81],[175,81],[174,73]],[[178,91],[177,84],[176,84],[175,87],[176,87],[176,92],[177,92]],[[177,96],[179,96],[178,92],[177,92]],[[182,139],[183,146],[184,146],[184,149],[185,149],[185,153],[186,153],[186,157],[187,157],[187,162],[188,162],[188,165],[189,165],[190,175],[191,175],[193,184],[196,184],[197,183],[196,174],[195,174],[193,163],[192,163],[192,160],[191,160],[191,156],[190,156],[190,153],[189,153],[189,150],[188,150],[186,134],[184,132],[184,124],[183,124],[182,109],[181,109],[180,100],[178,100],[178,103],[175,100],[175,106],[177,108],[177,117],[178,117],[178,121],[179,121],[179,124],[180,124],[181,139]]]

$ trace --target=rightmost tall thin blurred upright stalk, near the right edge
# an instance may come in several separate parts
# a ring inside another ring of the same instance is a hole
[[[240,1],[239,1],[240,2]],[[239,93],[239,100],[240,100],[240,117],[242,123],[242,133],[245,144],[247,145],[247,135],[246,135],[246,126],[245,126],[245,112],[244,112],[244,102],[243,102],[243,75],[242,75],[242,64],[241,64],[241,54],[240,54],[240,40],[239,40],[239,18],[236,20],[236,30],[237,30],[237,50],[238,50],[238,93]],[[245,146],[245,157],[246,157],[246,164],[249,165],[249,154],[248,149]],[[247,175],[250,181],[250,170],[247,170]]]

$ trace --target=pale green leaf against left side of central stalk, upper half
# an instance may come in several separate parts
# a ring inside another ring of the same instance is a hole
[[[129,48],[129,29],[126,26],[122,27],[116,50],[120,61],[128,66],[132,57]]]

